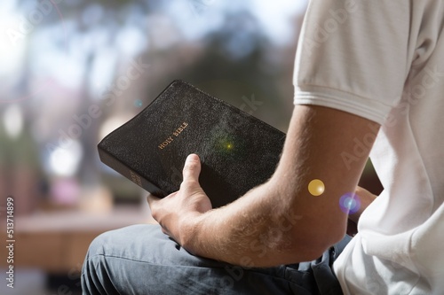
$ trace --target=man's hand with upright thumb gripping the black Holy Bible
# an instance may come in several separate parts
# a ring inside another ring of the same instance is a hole
[[[210,198],[199,184],[200,173],[201,161],[197,155],[191,154],[186,158],[180,190],[162,199],[148,196],[153,218],[162,226],[163,232],[180,245],[184,245],[184,239],[188,237],[191,221],[211,210]]]

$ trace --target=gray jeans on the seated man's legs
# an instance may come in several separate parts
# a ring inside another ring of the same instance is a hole
[[[241,268],[186,252],[157,225],[109,231],[90,245],[83,294],[342,294],[331,265],[350,237],[318,260],[275,268]]]

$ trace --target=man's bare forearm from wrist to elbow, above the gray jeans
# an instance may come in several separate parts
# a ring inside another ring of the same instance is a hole
[[[310,226],[302,213],[289,210],[286,199],[266,182],[228,206],[185,221],[181,242],[194,254],[244,267],[319,257],[320,245],[305,230]]]

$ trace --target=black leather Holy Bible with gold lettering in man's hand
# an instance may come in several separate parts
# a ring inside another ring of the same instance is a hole
[[[175,81],[98,148],[103,163],[160,198],[178,190],[186,156],[197,153],[199,182],[218,207],[273,175],[284,140],[262,120]]]

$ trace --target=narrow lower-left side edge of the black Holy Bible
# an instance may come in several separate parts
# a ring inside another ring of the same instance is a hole
[[[157,197],[166,196],[166,193],[164,193],[163,190],[159,189],[153,182],[150,182],[146,178],[140,176],[137,172],[131,170],[130,167],[123,164],[122,161],[119,161],[107,151],[101,149],[100,146],[99,158],[108,167],[113,168],[116,172],[131,180],[131,182],[136,183],[142,189],[147,190],[152,195],[155,195]]]

